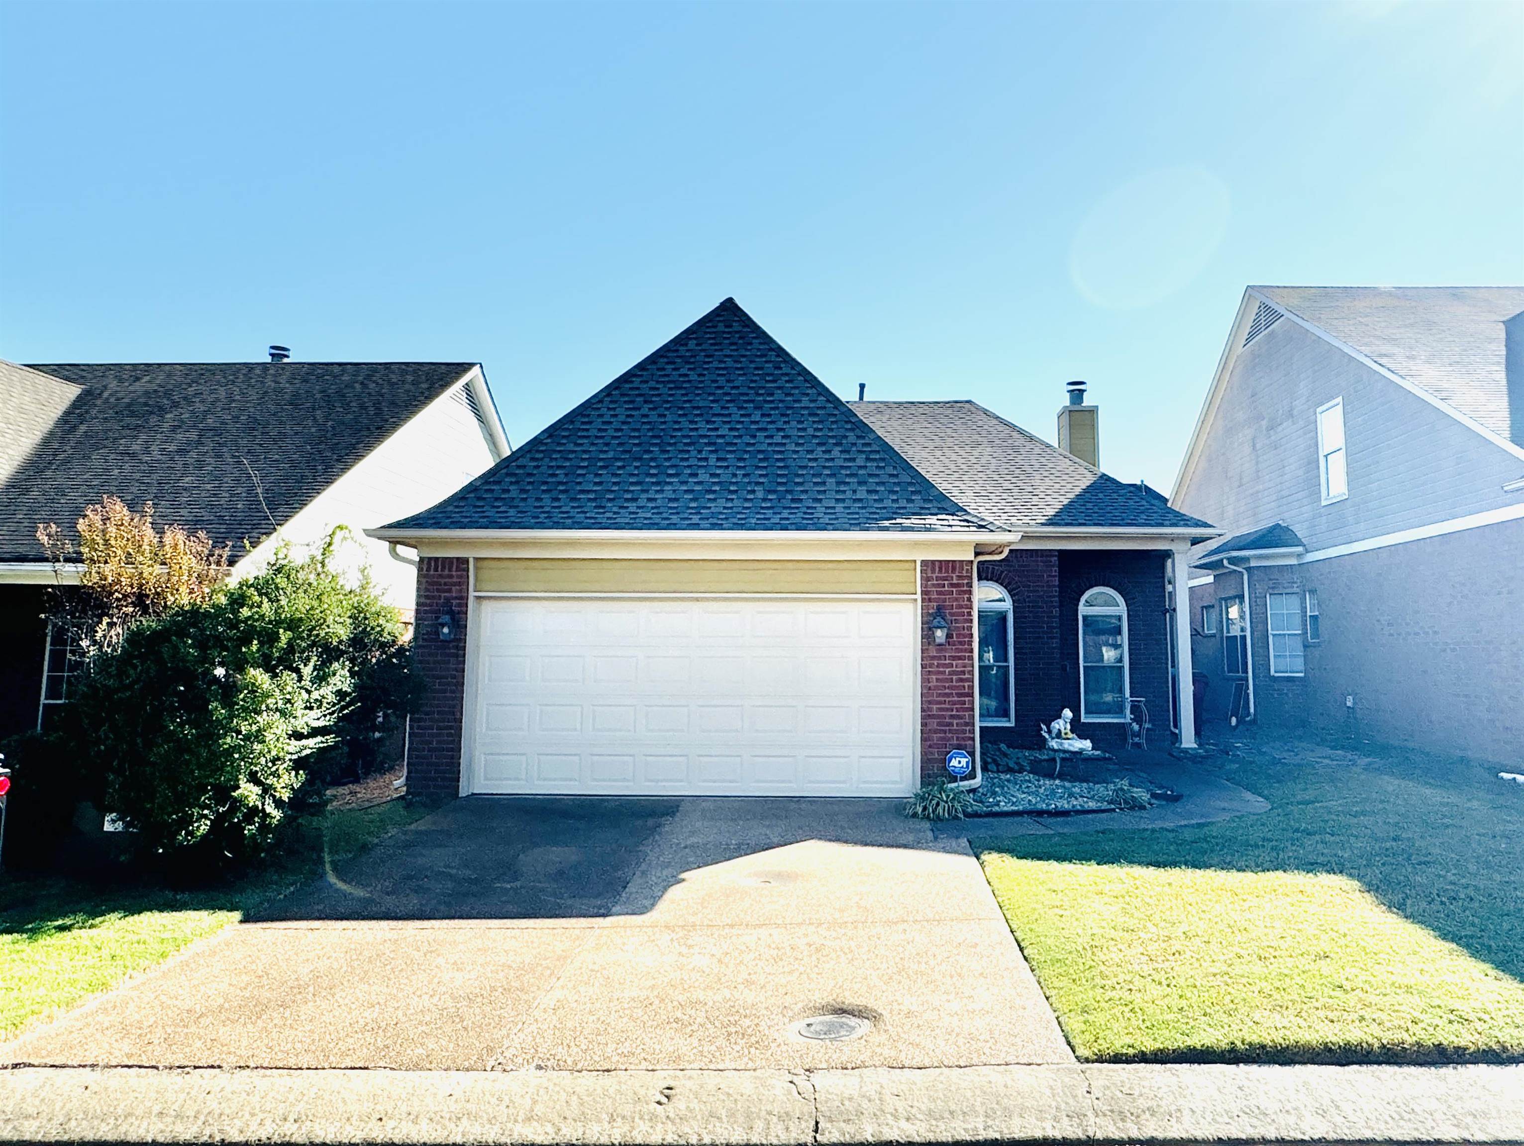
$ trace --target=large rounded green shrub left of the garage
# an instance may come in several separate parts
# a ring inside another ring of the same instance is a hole
[[[332,568],[332,546],[126,628],[64,706],[104,806],[154,853],[247,863],[338,770],[373,763],[411,696],[396,611]]]

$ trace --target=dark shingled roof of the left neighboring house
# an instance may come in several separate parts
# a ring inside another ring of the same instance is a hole
[[[271,517],[290,520],[474,366],[93,363],[0,370],[0,422],[20,424],[26,413],[24,433],[0,436],[0,561],[44,561],[37,526],[50,521],[72,532],[81,511],[104,494],[134,509],[152,501],[157,521],[235,543],[236,559],[239,543],[273,532]],[[61,381],[49,384],[34,372]]]

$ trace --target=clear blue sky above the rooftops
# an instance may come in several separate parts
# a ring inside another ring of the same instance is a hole
[[[486,366],[733,294],[1167,489],[1247,283],[1524,280],[1524,5],[0,3],[0,357]]]

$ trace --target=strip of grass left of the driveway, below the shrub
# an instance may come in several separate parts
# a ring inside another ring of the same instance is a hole
[[[331,812],[296,858],[207,892],[0,876],[0,1038],[146,971],[416,820],[401,800]],[[326,849],[325,849],[326,843]]]

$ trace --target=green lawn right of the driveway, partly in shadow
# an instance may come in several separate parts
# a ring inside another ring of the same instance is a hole
[[[1524,1059],[1524,789],[1411,753],[1257,750],[1218,824],[975,840],[1097,1061]]]

